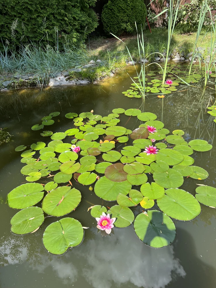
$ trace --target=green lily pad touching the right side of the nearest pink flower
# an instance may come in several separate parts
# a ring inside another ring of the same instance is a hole
[[[128,207],[115,205],[107,213],[112,214],[112,218],[117,218],[114,224],[115,227],[128,227],[134,221],[134,213]]]

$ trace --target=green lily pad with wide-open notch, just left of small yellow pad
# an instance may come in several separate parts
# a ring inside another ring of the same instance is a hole
[[[135,206],[139,204],[139,202],[142,200],[143,200],[143,195],[138,190],[135,190],[135,189],[131,189],[129,191],[129,197],[122,193],[119,193],[117,196],[117,203],[120,206],[124,206],[124,207]]]

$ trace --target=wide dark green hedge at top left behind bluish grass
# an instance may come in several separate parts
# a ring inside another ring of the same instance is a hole
[[[90,8],[95,2],[3,0],[0,2],[0,37],[3,42],[8,39],[15,44],[20,43],[20,39],[22,43],[41,41],[54,44],[58,28],[60,41],[67,35],[67,39],[74,43],[79,35],[88,35],[97,26],[97,16]]]

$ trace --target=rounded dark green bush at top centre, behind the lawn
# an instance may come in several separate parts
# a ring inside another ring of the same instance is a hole
[[[141,24],[145,27],[146,16],[143,0],[109,0],[103,7],[101,18],[105,32],[119,35],[123,32],[136,33],[135,21],[138,31],[141,31]]]

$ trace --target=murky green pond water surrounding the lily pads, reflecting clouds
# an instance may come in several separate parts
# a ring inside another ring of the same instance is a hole
[[[135,76],[133,68],[128,72],[131,77]],[[195,195],[197,183],[215,187],[214,125],[208,122],[210,115],[205,112],[209,99],[215,97],[215,91],[207,88],[200,102],[202,86],[181,85],[177,92],[165,95],[163,105],[157,95],[148,96],[142,105],[141,99],[122,94],[122,91],[129,89],[130,83],[130,77],[124,73],[100,85],[48,88],[43,91],[18,90],[0,95],[1,127],[8,127],[8,131],[14,135],[13,142],[0,147],[0,287],[215,287],[216,209],[202,204],[201,214],[192,221],[173,219],[177,235],[172,245],[154,249],[139,240],[133,225],[114,228],[115,234],[111,234],[111,237],[102,237],[97,233],[96,221],[87,210],[96,204],[109,206],[110,202],[98,198],[94,190],[91,192],[88,186],[73,180],[73,187],[82,194],[82,201],[68,217],[74,217],[82,226],[89,227],[84,232],[82,245],[69,249],[61,256],[48,253],[42,236],[45,228],[54,221],[53,217],[46,218],[34,234],[19,236],[10,230],[10,219],[17,210],[5,204],[6,196],[25,181],[20,173],[23,166],[20,152],[14,149],[21,144],[50,141],[50,137],[40,136],[41,130],[32,131],[31,126],[40,123],[43,116],[53,111],[60,112],[56,117],[58,121],[49,126],[53,132],[73,128],[72,121],[65,118],[69,112],[79,114],[93,109],[95,114],[106,116],[114,108],[139,108],[155,113],[170,132],[181,129],[185,131],[187,141],[200,138],[213,144],[211,151],[193,154],[194,165],[206,169],[209,177],[200,181],[188,178],[181,188]],[[127,120],[126,115],[121,115],[122,126]],[[137,117],[131,117],[126,127],[133,130],[139,124]],[[124,143],[118,145],[120,149]],[[141,207],[132,210],[135,215],[141,213]],[[58,218],[54,218],[57,221]]]

